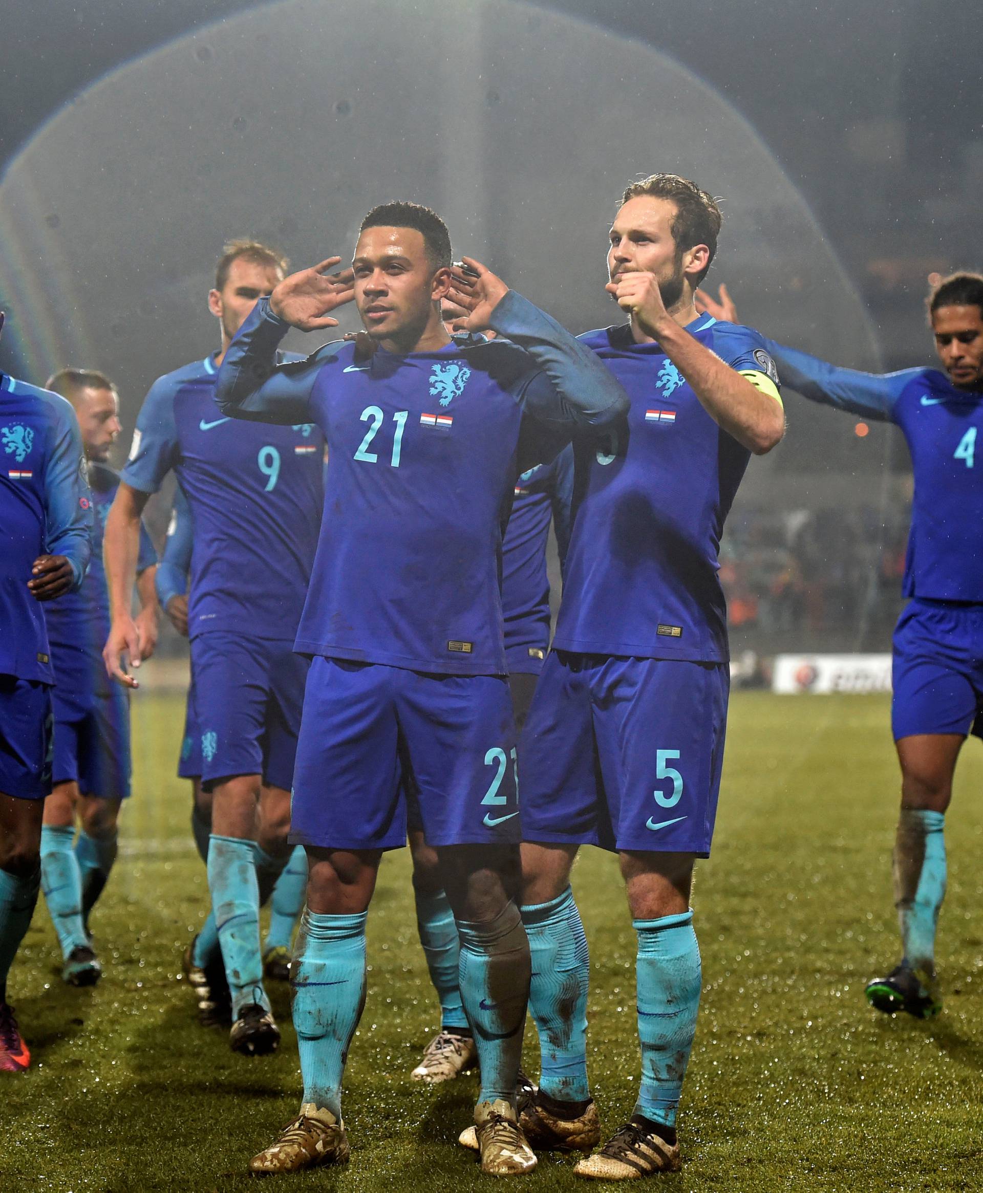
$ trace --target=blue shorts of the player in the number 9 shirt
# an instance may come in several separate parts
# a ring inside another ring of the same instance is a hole
[[[191,642],[191,670],[202,781],[259,774],[289,791],[307,659],[290,641],[210,630]]]

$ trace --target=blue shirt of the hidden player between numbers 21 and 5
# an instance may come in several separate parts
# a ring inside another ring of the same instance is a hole
[[[574,453],[565,447],[550,464],[537,464],[515,482],[512,514],[502,542],[502,618],[509,674],[538,673],[550,644],[550,523],[561,567],[570,538]]]

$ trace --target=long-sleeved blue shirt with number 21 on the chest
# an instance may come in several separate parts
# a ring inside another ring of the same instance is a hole
[[[502,527],[515,477],[626,406],[588,350],[513,291],[507,339],[434,352],[335,342],[273,369],[288,324],[260,299],[218,378],[223,414],[309,419],[328,441],[324,518],[296,649],[445,674],[506,674]]]

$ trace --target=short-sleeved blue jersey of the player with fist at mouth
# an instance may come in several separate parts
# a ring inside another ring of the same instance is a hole
[[[701,315],[687,327],[741,372],[773,372],[758,332]],[[750,452],[701,406],[657,344],[629,324],[587,332],[631,408],[605,437],[577,434],[570,549],[554,648],[724,662],[717,555]]]

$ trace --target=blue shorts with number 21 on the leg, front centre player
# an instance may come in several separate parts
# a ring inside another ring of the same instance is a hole
[[[437,675],[314,659],[290,840],[406,845],[407,802],[432,846],[519,840],[515,731],[501,675]],[[407,796],[409,792],[409,796]]]

